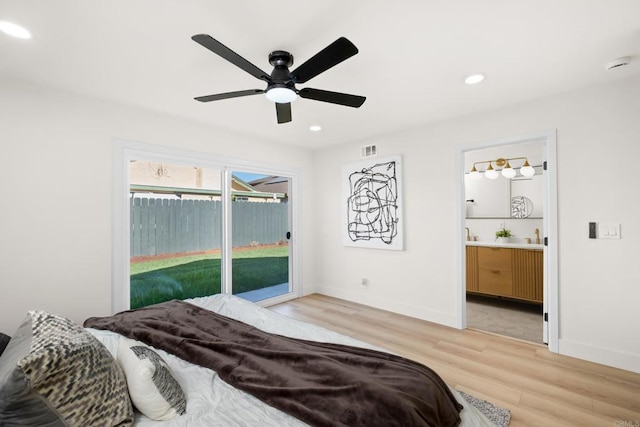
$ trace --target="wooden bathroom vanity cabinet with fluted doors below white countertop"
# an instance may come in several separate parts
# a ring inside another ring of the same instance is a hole
[[[540,250],[467,246],[467,292],[542,303]]]

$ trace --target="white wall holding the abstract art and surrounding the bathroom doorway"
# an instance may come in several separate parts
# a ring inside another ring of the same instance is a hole
[[[318,291],[454,325],[456,149],[557,129],[560,352],[640,372],[638,117],[636,77],[318,152]],[[340,244],[340,168],[369,143],[404,159],[403,252]],[[589,221],[622,239],[588,239]]]

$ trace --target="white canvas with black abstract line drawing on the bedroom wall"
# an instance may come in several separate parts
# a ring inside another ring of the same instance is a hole
[[[342,167],[343,244],[403,250],[401,156]]]

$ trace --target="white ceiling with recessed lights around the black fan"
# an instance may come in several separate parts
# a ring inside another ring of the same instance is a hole
[[[70,90],[301,147],[423,126],[640,74],[639,0],[0,0],[0,76]],[[360,53],[302,87],[367,97],[354,109],[298,99],[278,125],[265,84],[191,40],[206,33],[271,72],[340,36]],[[620,56],[629,66],[606,71]],[[467,86],[464,78],[486,80]],[[312,133],[309,125],[323,131]]]

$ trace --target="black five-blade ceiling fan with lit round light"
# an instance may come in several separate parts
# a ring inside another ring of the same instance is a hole
[[[221,99],[237,98],[241,96],[266,94],[267,98],[276,104],[276,116],[278,123],[291,121],[291,102],[299,95],[301,98],[315,101],[329,102],[348,107],[360,107],[366,98],[364,96],[349,95],[346,93],[330,92],[320,89],[297,89],[297,83],[306,83],[320,73],[338,65],[342,61],[358,53],[358,48],[344,37],[340,37],[329,46],[309,58],[304,64],[293,71],[289,67],[293,65],[293,55],[283,50],[276,50],[269,54],[269,63],[273,65],[271,75],[253,65],[213,37],[207,34],[196,34],[191,37],[196,43],[206,47],[216,55],[221,56],[233,65],[243,69],[247,73],[267,83],[266,89],[249,89],[236,92],[218,93],[215,95],[199,96],[195,98],[200,102],[218,101]]]

